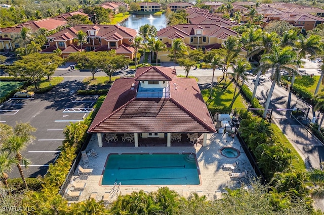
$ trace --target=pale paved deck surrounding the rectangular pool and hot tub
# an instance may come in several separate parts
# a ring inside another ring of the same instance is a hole
[[[237,158],[227,158],[223,156],[219,149],[222,147],[234,147],[240,150],[240,155]],[[93,135],[86,151],[90,149],[95,149],[99,156],[93,158],[89,156],[90,164],[88,168],[93,169],[91,176],[79,176],[77,171],[73,175],[71,180],[77,182],[86,183],[86,187],[83,189],[82,194],[79,198],[68,198],[71,202],[73,201],[84,201],[89,199],[93,192],[97,192],[96,200],[102,200],[105,192],[110,192],[108,202],[116,199],[117,194],[125,195],[131,194],[133,191],[138,192],[139,190],[144,190],[144,192],[156,191],[159,187],[168,186],[171,190],[175,190],[180,195],[188,197],[191,192],[198,193],[199,196],[206,195],[208,199],[219,198],[221,192],[225,192],[224,188],[238,188],[241,186],[240,181],[231,180],[231,171],[223,171],[223,164],[233,164],[238,161],[238,165],[233,172],[241,173],[245,170],[248,171],[249,178],[254,178],[254,170],[249,162],[243,149],[240,148],[240,143],[235,137],[229,137],[227,134],[208,134],[207,146],[203,147],[200,144],[191,146],[172,146],[171,147],[98,147],[97,137]],[[200,185],[151,185],[151,186],[121,186],[118,191],[115,187],[113,191],[113,186],[101,186],[100,181],[103,174],[103,169],[106,163],[107,155],[109,153],[191,153],[194,152],[197,157],[198,166],[200,170]],[[80,162],[83,166],[83,163]],[[67,187],[71,189],[71,184]],[[113,194],[114,193],[114,194]]]

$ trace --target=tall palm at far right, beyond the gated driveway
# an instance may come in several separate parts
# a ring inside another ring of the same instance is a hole
[[[297,68],[299,68],[301,59],[305,59],[307,54],[311,56],[315,56],[316,53],[320,52],[319,44],[320,44],[320,37],[318,35],[310,35],[309,37],[305,38],[302,34],[299,35],[298,41],[296,42],[296,47],[298,48],[298,63]],[[298,72],[298,71],[297,71]],[[296,73],[293,73],[291,87],[293,87],[296,78]]]

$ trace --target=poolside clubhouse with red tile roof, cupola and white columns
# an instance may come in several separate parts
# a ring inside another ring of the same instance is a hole
[[[183,139],[199,134],[206,146],[207,134],[215,132],[196,80],[179,78],[174,69],[158,66],[138,68],[135,77],[116,79],[88,130],[97,134],[99,147],[109,134],[120,140],[126,133],[132,134],[135,147],[147,139],[152,141],[146,146],[153,146],[157,138],[170,147],[174,133],[180,140],[182,134]]]

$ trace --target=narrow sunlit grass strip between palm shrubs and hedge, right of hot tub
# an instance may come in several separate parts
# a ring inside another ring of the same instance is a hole
[[[281,143],[285,147],[291,149],[291,153],[298,158],[298,160],[293,159],[292,166],[293,170],[300,170],[305,171],[306,167],[304,164],[303,158],[299,155],[299,153],[296,151],[294,146],[289,142],[287,137],[282,133],[282,131],[276,126],[275,124],[271,124],[271,128],[273,129],[274,136],[277,138],[277,142]]]

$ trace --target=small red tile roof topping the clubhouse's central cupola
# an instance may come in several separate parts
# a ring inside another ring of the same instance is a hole
[[[154,80],[154,81],[171,81],[173,77],[177,76],[174,69],[168,67],[140,67],[135,74],[135,81]]]

